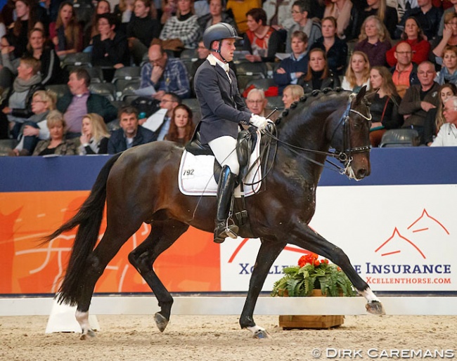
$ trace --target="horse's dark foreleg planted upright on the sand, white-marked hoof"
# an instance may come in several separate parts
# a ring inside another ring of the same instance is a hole
[[[254,308],[257,303],[260,291],[264,285],[266,275],[268,275],[271,265],[278,258],[278,255],[285,247],[285,242],[268,241],[262,239],[262,244],[257,254],[254,269],[252,270],[251,279],[249,282],[249,291],[243,312],[240,315],[240,326],[242,329],[248,329],[257,339],[269,337],[263,327],[259,327],[254,322]]]

